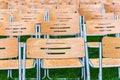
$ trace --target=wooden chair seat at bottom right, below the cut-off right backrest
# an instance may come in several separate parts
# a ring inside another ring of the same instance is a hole
[[[99,68],[99,59],[90,59],[90,65],[94,68]],[[103,67],[120,67],[120,59],[102,58]]]

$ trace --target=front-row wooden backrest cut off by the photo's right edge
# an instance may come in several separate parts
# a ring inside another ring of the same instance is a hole
[[[120,38],[104,37],[102,39],[103,57],[120,58]]]

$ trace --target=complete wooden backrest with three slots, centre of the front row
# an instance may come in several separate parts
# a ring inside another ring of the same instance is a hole
[[[27,40],[28,58],[80,58],[85,56],[83,38]]]

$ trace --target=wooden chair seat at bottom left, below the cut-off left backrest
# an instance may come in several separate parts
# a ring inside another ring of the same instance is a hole
[[[31,68],[34,65],[34,60],[26,60],[26,68]],[[0,60],[0,69],[18,69],[18,60]]]

